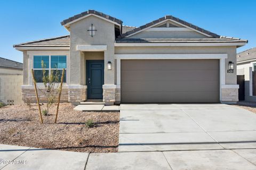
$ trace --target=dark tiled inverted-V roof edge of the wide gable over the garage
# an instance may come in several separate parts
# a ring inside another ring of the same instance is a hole
[[[131,31],[127,31],[125,34],[120,35],[118,38],[124,38],[126,36],[131,35],[131,34],[138,33],[139,31],[142,31],[142,30],[144,30],[144,29],[146,29],[148,27],[156,25],[157,23],[163,22],[165,20],[172,20],[172,21],[178,22],[181,25],[185,25],[185,26],[187,26],[187,27],[189,27],[191,29],[197,30],[197,31],[199,31],[199,32],[201,32],[203,34],[209,35],[209,36],[214,37],[214,38],[219,38],[220,37],[220,35],[218,35],[218,34],[214,34],[214,33],[210,32],[210,31],[207,31],[207,30],[205,30],[203,28],[195,26],[195,25],[193,25],[191,23],[188,23],[188,22],[186,22],[184,20],[181,20],[179,18],[173,17],[172,15],[165,15],[165,17],[162,17],[162,18],[159,18],[159,19],[157,19],[155,21],[146,23],[146,25],[140,26],[140,27],[135,28],[135,29],[133,29]]]

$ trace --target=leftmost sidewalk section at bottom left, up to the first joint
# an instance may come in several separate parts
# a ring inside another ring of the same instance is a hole
[[[84,169],[89,153],[0,144],[0,169]]]

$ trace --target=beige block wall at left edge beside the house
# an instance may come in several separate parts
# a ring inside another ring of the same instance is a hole
[[[0,75],[0,101],[8,103],[13,100],[14,104],[21,104],[22,75]]]

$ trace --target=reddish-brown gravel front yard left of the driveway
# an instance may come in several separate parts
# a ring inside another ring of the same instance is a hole
[[[41,109],[45,109],[45,104]],[[71,103],[60,103],[58,123],[54,124],[56,106],[39,121],[38,108],[32,104],[0,108],[0,143],[35,148],[78,152],[117,152],[119,112],[75,111]],[[92,119],[94,127],[87,128]]]

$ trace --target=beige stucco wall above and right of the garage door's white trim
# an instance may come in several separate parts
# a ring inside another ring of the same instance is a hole
[[[226,69],[228,62],[235,63],[236,68],[236,47],[235,46],[171,46],[171,47],[115,47],[115,54],[228,54],[225,60]],[[236,69],[234,73],[225,71],[226,84],[236,84]]]

